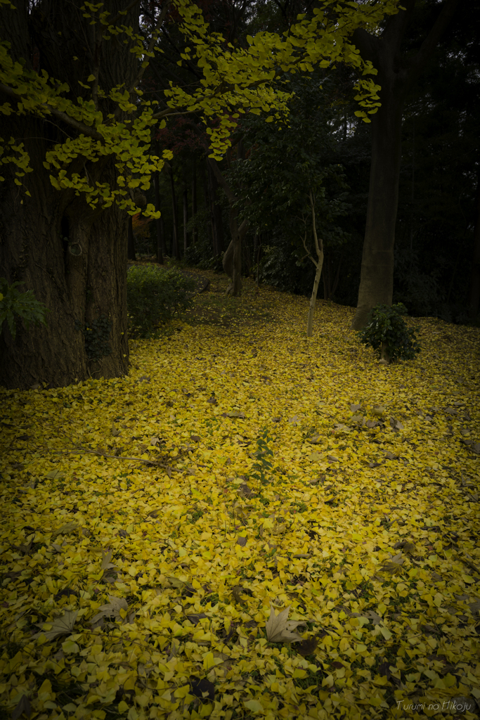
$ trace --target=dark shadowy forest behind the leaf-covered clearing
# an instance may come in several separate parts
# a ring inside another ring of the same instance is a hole
[[[246,46],[247,35],[282,32],[313,6],[218,0],[202,8],[212,30]],[[439,7],[435,0],[417,2],[404,54],[420,47]],[[155,5],[144,8],[146,30]],[[476,323],[479,312],[474,287],[480,260],[479,40],[480,5],[463,2],[409,92],[402,127],[394,302],[404,302],[410,315],[454,323]],[[196,68],[181,61],[184,40],[174,20],[163,32],[162,46],[164,54],[157,55],[142,84],[145,95],[160,104],[169,79],[189,86],[199,81]],[[241,197],[240,217],[249,218],[243,274],[297,294],[312,292],[314,266],[304,258],[296,178],[302,182],[308,163],[323,173],[325,197],[317,214],[325,264],[319,295],[350,306],[357,303],[371,159],[371,125],[356,117],[355,81],[355,73],[341,65],[285,76],[283,89],[296,93],[290,127],[279,130],[275,122],[240,116],[232,150],[219,163]],[[229,206],[207,160],[207,142],[205,127],[191,114],[171,117],[156,135],[157,148],[170,148],[174,155],[148,191],[148,202],[162,217],[146,223],[135,218],[130,258],[155,255],[162,262],[175,258],[222,271],[222,253],[230,243]]]

